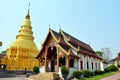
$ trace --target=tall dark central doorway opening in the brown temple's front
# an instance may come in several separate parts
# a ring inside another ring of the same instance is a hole
[[[57,71],[57,49],[55,46],[48,48],[47,59],[49,60],[48,67],[50,69],[50,72]]]

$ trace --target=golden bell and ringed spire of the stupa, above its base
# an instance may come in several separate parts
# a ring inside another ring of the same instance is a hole
[[[34,36],[30,20],[30,3],[28,6],[27,14],[23,20],[19,33],[16,36],[16,40],[11,46],[20,46],[23,48],[36,49],[37,47],[34,43]]]

